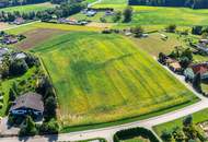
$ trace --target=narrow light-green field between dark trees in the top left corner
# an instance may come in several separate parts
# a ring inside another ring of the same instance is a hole
[[[37,12],[37,11],[44,11],[50,8],[54,8],[55,4],[51,4],[49,2],[41,3],[41,4],[27,4],[27,5],[19,5],[19,7],[10,7],[10,8],[4,8],[0,9],[0,11],[4,12],[14,12],[14,11],[20,11],[21,13],[27,13],[27,12]]]

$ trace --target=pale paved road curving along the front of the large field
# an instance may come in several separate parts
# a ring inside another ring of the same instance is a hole
[[[165,68],[165,67],[164,67]],[[166,69],[166,68],[165,68]],[[166,69],[169,71],[169,69]],[[170,71],[171,72],[171,71]],[[171,72],[172,73],[172,72]],[[175,75],[174,73],[172,73]],[[190,115],[193,113],[199,111],[201,109],[208,108],[208,98],[201,96],[200,94],[196,93],[190,86],[188,86],[183,78],[175,75],[184,85],[186,85],[190,91],[193,91],[201,100],[187,106],[185,108],[174,110],[158,117],[152,117],[146,120],[139,120],[126,125],[114,126],[108,128],[95,129],[95,130],[86,130],[86,131],[79,131],[79,132],[71,132],[71,133],[63,133],[49,137],[34,137],[34,138],[25,138],[23,140],[18,138],[1,138],[0,142],[54,142],[54,141],[77,141],[77,140],[85,140],[92,138],[105,138],[108,142],[112,142],[113,134],[122,129],[132,128],[132,127],[146,127],[152,129],[153,126],[164,123],[180,117],[184,117]]]

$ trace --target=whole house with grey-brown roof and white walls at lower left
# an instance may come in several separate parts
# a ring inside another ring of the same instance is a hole
[[[21,95],[13,102],[9,113],[15,116],[32,115],[39,118],[44,113],[43,97],[32,92]]]

